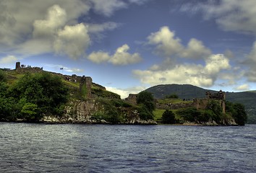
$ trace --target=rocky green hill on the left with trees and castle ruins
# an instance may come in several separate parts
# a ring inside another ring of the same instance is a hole
[[[20,66],[0,69],[0,121],[155,124],[90,76]]]

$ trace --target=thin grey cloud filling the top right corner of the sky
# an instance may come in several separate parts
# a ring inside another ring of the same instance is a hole
[[[203,12],[205,19],[216,19],[223,30],[256,34],[255,0],[208,1],[189,6],[183,11]]]

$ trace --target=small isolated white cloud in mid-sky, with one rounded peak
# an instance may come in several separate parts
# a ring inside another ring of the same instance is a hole
[[[142,60],[139,53],[128,53],[129,45],[125,44],[116,49],[114,55],[110,56],[109,53],[99,51],[90,53],[88,59],[94,63],[108,62],[114,65],[127,65],[138,63]]]

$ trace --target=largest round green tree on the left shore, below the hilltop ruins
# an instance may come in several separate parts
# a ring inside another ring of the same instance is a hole
[[[9,89],[10,96],[23,108],[22,114],[35,121],[43,115],[59,114],[67,102],[67,92],[61,79],[48,73],[25,74]]]

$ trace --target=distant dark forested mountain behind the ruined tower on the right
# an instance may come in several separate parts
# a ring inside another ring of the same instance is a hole
[[[190,84],[163,84],[152,86],[145,91],[151,92],[156,99],[163,99],[169,94],[176,94],[181,99],[205,98],[205,92],[218,92]],[[226,100],[242,103],[247,110],[247,123],[256,123],[256,91],[226,92]]]

